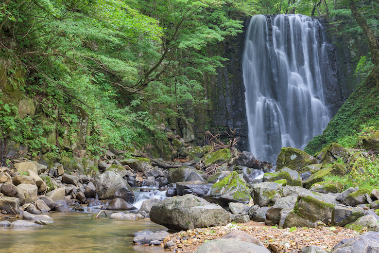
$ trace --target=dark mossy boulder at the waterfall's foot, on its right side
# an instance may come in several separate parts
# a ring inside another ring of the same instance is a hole
[[[294,147],[282,147],[276,161],[276,171],[284,167],[296,170],[298,173],[306,172],[303,168],[309,164],[316,164],[316,159]]]

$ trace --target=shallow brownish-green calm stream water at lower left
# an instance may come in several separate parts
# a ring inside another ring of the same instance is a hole
[[[95,219],[94,213],[47,213],[55,224],[44,227],[0,227],[0,253],[164,253],[163,247],[133,245],[133,236],[141,230],[167,229],[150,219]],[[92,218],[92,219],[91,219]],[[12,221],[12,220],[10,220]]]

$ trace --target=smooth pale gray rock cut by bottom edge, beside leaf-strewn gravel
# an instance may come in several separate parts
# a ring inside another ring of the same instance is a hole
[[[243,253],[270,253],[265,247],[258,246],[257,244],[238,241],[233,239],[215,239],[210,240],[198,248],[195,253],[231,253],[231,252],[243,252]]]

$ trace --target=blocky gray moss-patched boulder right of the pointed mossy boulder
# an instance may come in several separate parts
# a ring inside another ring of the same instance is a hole
[[[254,203],[259,206],[274,205],[276,200],[280,199],[279,189],[281,183],[262,182],[253,185]]]

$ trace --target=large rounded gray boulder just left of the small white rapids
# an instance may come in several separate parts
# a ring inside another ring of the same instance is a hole
[[[120,198],[134,202],[134,193],[130,185],[113,170],[106,170],[94,182],[99,199]]]

